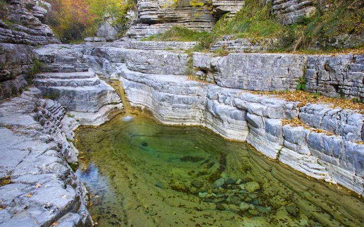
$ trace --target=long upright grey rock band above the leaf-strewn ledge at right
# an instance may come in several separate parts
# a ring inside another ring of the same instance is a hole
[[[364,55],[298,55],[230,53],[215,57],[195,54],[201,78],[221,87],[250,91],[294,91],[298,77],[308,81],[307,91],[330,97],[364,98]]]

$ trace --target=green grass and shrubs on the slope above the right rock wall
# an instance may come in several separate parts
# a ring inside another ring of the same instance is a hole
[[[234,17],[222,16],[210,33],[172,28],[146,40],[198,41],[207,48],[225,35],[256,40],[276,38],[283,50],[295,51],[311,49],[317,42],[328,42],[334,36],[364,33],[363,0],[317,0],[312,15],[300,17],[297,23],[286,26],[271,12],[272,3],[264,2],[246,0]]]

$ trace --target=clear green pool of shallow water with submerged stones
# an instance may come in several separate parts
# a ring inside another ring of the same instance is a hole
[[[199,127],[116,117],[76,134],[100,227],[364,226],[358,196]]]

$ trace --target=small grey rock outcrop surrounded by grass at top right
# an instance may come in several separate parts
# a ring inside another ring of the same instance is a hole
[[[296,23],[301,16],[315,12],[313,0],[274,0],[272,11],[284,25]]]

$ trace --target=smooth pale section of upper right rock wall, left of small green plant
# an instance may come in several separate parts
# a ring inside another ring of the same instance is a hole
[[[250,91],[294,91],[295,80],[304,74],[304,63],[304,56],[294,54],[194,55],[194,66],[212,74],[217,85]]]

